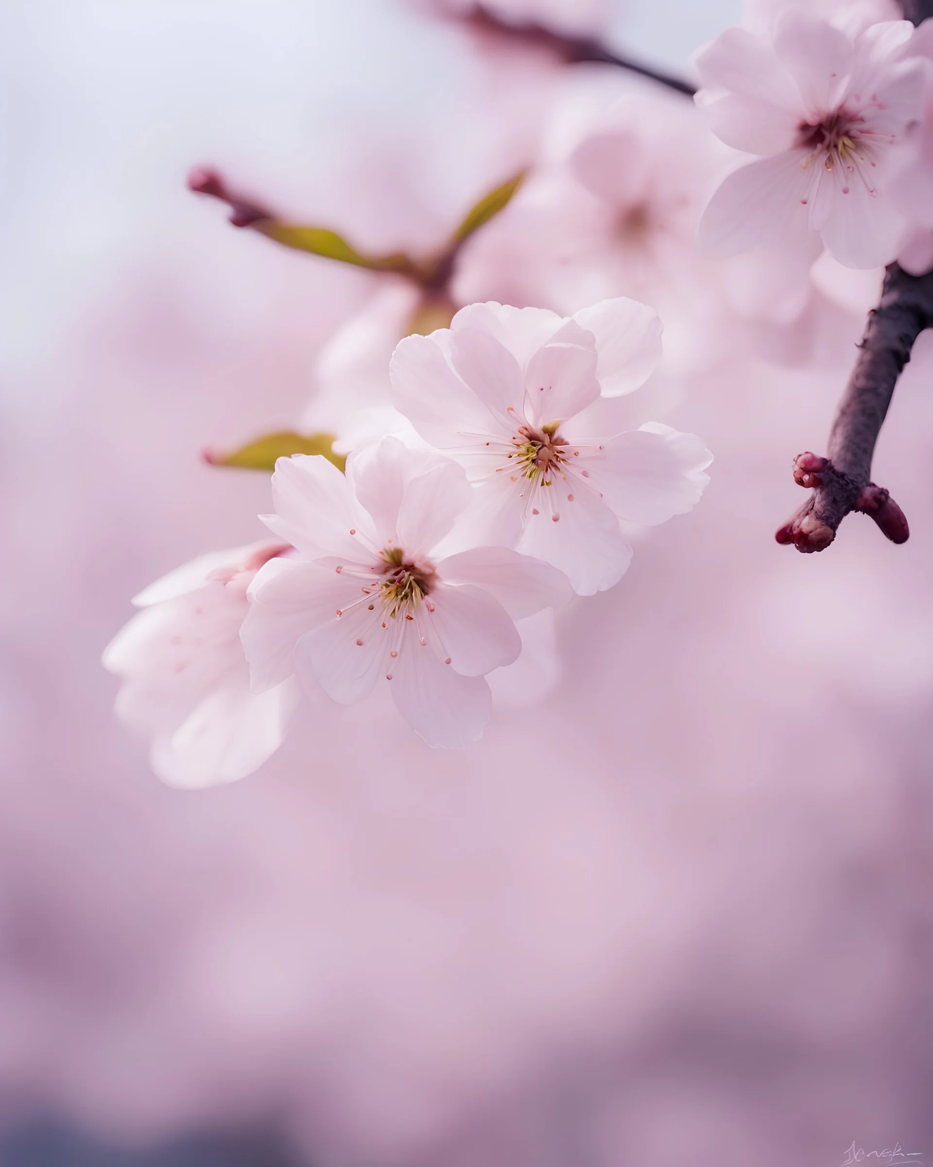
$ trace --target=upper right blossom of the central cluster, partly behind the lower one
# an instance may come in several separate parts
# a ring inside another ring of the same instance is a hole
[[[654,368],[660,333],[651,308],[625,299],[569,320],[482,303],[401,342],[395,403],[477,483],[470,538],[545,559],[591,595],[631,560],[620,518],[654,525],[694,506],[711,461],[702,441],[657,424],[620,432],[613,417],[611,398]]]

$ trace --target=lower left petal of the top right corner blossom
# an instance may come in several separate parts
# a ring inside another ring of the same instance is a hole
[[[787,151],[730,174],[700,222],[700,242],[722,257],[756,247],[802,247],[813,167],[806,151]]]

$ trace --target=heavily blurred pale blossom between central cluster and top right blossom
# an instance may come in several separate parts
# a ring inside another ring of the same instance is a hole
[[[707,363],[727,329],[720,273],[695,238],[728,155],[682,98],[585,71],[561,95],[522,189],[466,249],[458,298],[571,315],[630,296],[665,321],[666,372]]]

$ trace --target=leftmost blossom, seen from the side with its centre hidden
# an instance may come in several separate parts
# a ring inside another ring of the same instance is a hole
[[[251,693],[239,633],[253,576],[283,550],[258,543],[169,572],[134,598],[143,610],[104,651],[124,679],[117,713],[152,736],[152,767],[170,785],[243,778],[281,745],[297,692],[286,682]]]

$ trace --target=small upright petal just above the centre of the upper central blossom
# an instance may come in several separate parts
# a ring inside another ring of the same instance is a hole
[[[525,414],[535,425],[585,410],[599,396],[592,334],[574,321],[566,324],[528,362],[525,386]]]

